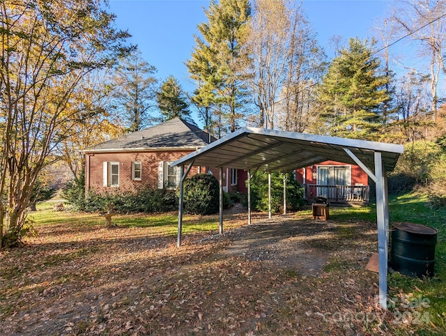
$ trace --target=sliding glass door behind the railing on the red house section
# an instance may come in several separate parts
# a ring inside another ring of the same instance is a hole
[[[317,188],[317,196],[337,199],[343,188],[336,185],[351,184],[351,166],[318,166],[316,184],[323,185]]]

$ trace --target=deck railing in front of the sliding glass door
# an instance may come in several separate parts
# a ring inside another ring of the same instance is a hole
[[[368,202],[369,185],[305,185],[307,201],[312,202],[318,196],[326,197],[330,202]]]

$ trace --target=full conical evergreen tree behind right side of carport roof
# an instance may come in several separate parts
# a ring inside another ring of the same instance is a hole
[[[388,78],[379,74],[379,66],[367,40],[357,38],[334,58],[318,96],[329,135],[378,138],[382,105],[390,99],[385,90]]]

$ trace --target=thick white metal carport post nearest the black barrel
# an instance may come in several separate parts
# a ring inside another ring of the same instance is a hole
[[[387,247],[389,245],[389,204],[387,176],[380,152],[375,152],[376,222],[378,224],[379,303],[387,309]]]

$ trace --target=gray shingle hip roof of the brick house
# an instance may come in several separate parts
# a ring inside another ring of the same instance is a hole
[[[214,140],[214,139],[213,139]],[[117,139],[103,142],[86,151],[131,151],[150,149],[201,148],[209,143],[207,132],[197,126],[175,118],[144,130],[132,132]]]

